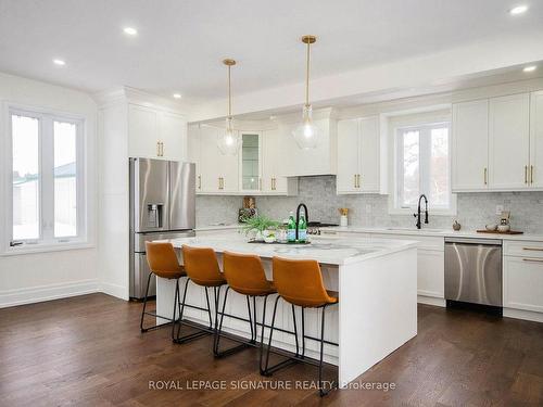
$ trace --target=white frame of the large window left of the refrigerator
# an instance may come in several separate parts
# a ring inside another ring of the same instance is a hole
[[[39,239],[17,240],[20,245],[11,245],[13,241],[13,150],[12,150],[12,115],[22,115],[39,119],[39,196],[40,212]],[[2,238],[3,255],[89,246],[88,237],[88,186],[86,177],[87,140],[86,118],[80,115],[55,112],[49,109],[24,106],[15,103],[4,105],[4,157],[2,173],[4,188],[2,193],[5,218]],[[77,200],[77,236],[54,237],[54,122],[71,123],[76,126],[76,200]],[[42,143],[46,143],[45,147]],[[45,150],[47,149],[47,151]],[[46,179],[46,181],[43,181]]]

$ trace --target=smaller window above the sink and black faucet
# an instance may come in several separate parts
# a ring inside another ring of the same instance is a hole
[[[400,127],[395,132],[397,209],[412,209],[426,194],[432,209],[453,209],[450,123]]]

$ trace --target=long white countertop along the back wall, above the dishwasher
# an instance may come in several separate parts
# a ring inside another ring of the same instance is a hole
[[[504,234],[504,233],[480,233],[476,230],[446,230],[425,228],[401,228],[401,227],[364,227],[364,226],[348,226],[348,227],[329,227],[321,228],[321,232],[351,232],[351,233],[382,233],[382,234],[401,234],[401,236],[428,236],[443,238],[478,238],[478,239],[498,239],[498,240],[533,240],[543,241],[543,234]]]

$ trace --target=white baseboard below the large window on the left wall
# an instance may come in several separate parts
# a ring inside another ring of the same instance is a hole
[[[0,308],[91,294],[99,291],[98,287],[97,280],[81,280],[61,284],[39,285],[29,289],[0,291]]]

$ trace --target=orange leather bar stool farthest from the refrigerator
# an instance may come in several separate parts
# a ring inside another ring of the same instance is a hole
[[[274,285],[279,293],[275,305],[274,315],[272,317],[272,328],[269,331],[269,341],[266,353],[266,365],[264,368],[264,376],[270,376],[274,371],[280,368],[292,365],[293,363],[304,361],[311,365],[318,366],[318,389],[320,396],[328,394],[330,389],[326,390],[323,382],[323,356],[325,346],[325,315],[326,308],[332,304],[338,304],[336,293],[326,291],[323,283],[323,274],[316,260],[292,260],[286,258],[274,257]],[[273,367],[269,367],[269,352],[272,348],[272,336],[274,334],[275,317],[277,311],[277,303],[279,298],[283,298],[292,306],[292,318],[294,321],[294,338],[296,344],[296,353],[293,357],[289,357]],[[294,306],[302,308],[302,352],[298,342],[298,328]],[[323,309],[320,319],[320,357],[318,363],[305,359],[305,308],[320,308]],[[261,353],[262,358],[262,353]],[[337,386],[334,383],[333,386]]]

